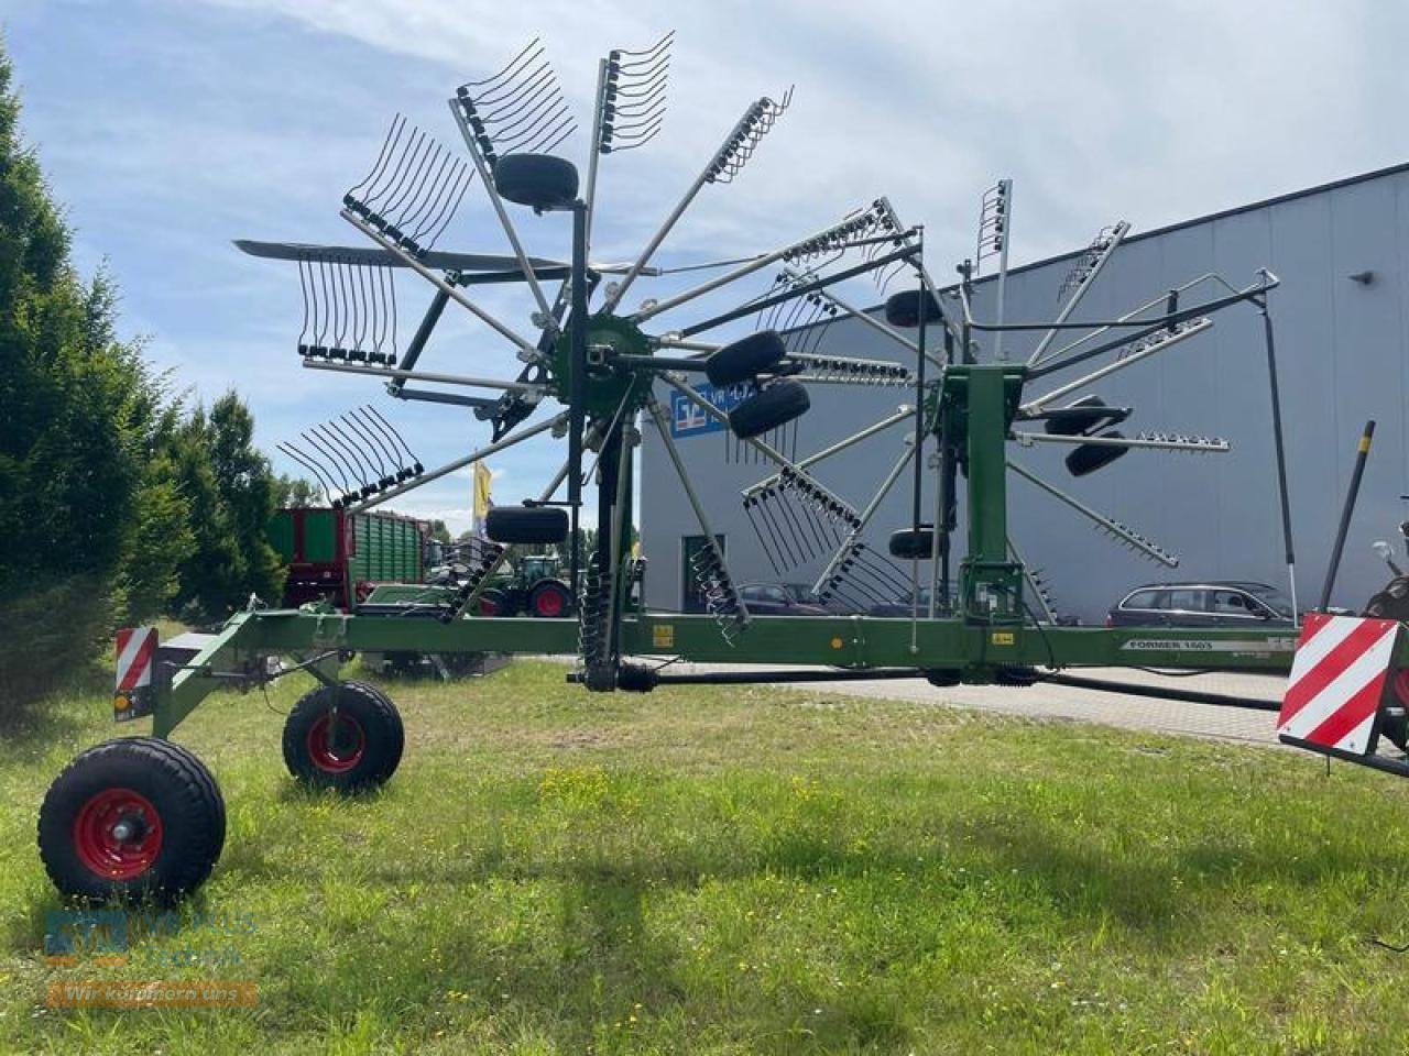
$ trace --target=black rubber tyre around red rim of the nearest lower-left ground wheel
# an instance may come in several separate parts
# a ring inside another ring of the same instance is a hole
[[[152,803],[163,836],[145,873],[111,880],[79,859],[73,822],[93,796],[123,787]],[[87,749],[54,779],[39,807],[38,839],[45,872],[70,898],[170,904],[200,887],[220,860],[225,801],[210,770],[187,749],[152,736],[120,738]]]

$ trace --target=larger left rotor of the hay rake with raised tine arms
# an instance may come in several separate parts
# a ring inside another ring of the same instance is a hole
[[[758,491],[755,504],[768,514],[778,508],[789,518],[789,529],[803,528],[797,508],[806,510],[803,538],[820,552],[852,536],[864,525],[864,511],[816,480],[806,460],[795,460],[809,386],[910,387],[919,362],[914,341],[851,307],[833,289],[857,276],[874,276],[883,289],[898,269],[917,266],[920,232],[906,228],[885,199],[766,252],[678,272],[654,263],[692,203],[743,175],[786,113],[790,89],[754,100],[727,127],[635,258],[628,263],[592,260],[593,218],[609,159],[647,146],[664,125],[672,42],[674,34],[666,34],[647,48],[613,49],[599,63],[581,191],[578,168],[555,153],[572,141],[578,122],[535,39],[497,72],[461,84],[448,100],[464,153],[406,118],[393,118],[371,168],[341,201],[342,218],[368,245],[238,244],[247,252],[297,265],[304,304],[297,351],[306,369],[378,377],[392,397],[466,408],[489,425],[488,445],[433,469],[407,458],[400,435],[373,408],[311,427],[297,441],[280,445],[316,476],[333,504],[356,513],[533,436],[552,434],[566,441],[562,469],[540,493],[490,513],[492,543],[469,562],[441,618],[454,621],[476,611],[475,601],[509,543],[565,546],[578,594],[582,679],[592,689],[616,687],[621,667],[623,584],[631,580],[634,562],[628,545],[631,482],[643,428],[659,435],[706,539],[693,574],[707,611],[727,641],[750,627],[748,608],[675,449],[658,396],[681,393],[699,413],[727,425],[735,458],[772,465],[774,479]],[[504,253],[441,248],[475,200],[475,183],[502,230]],[[535,215],[569,214],[571,260],[530,255],[520,230],[524,213],[516,207]],[[674,277],[668,296],[630,306],[627,297],[637,282],[686,272],[713,275],[683,289],[688,280]],[[657,317],[669,314],[674,321],[700,298],[717,298],[737,283],[765,275],[774,276],[772,287],[741,296],[735,308],[669,329],[652,325]],[[397,284],[411,277],[430,286],[430,303],[406,338],[399,334],[397,308],[406,293],[399,294]],[[476,289],[500,283],[527,290],[527,318],[492,310]],[[433,332],[451,304],[507,344],[521,365],[516,376],[427,369]],[[751,335],[709,339],[747,318],[755,324]],[[840,318],[882,328],[903,355],[879,360],[824,352],[826,325]],[[548,403],[561,410],[530,424]],[[383,445],[393,434],[396,442]],[[589,489],[595,491],[597,543],[592,553],[583,553],[581,518]],[[779,508],[783,501],[786,513]],[[792,545],[797,545],[796,535]],[[854,538],[847,543],[843,563],[848,567],[875,560],[883,559]]]

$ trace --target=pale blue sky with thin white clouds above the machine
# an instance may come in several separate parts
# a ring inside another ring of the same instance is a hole
[[[203,398],[237,387],[266,448],[376,401],[427,463],[482,444],[468,414],[392,403],[368,379],[299,367],[296,272],[232,238],[358,245],[338,217],[393,113],[447,146],[454,87],[541,35],[579,124],[597,58],[678,31],[672,107],[647,149],[603,166],[595,256],[630,259],[740,111],[796,86],[740,180],[712,187],[659,255],[761,252],[878,194],[927,230],[931,270],[972,252],[978,197],[1016,183],[1014,260],[1296,190],[1409,156],[1386,3],[447,4],[442,0],[0,0],[27,139],[76,228],[86,272],[120,283],[123,329]],[[462,149],[462,148],[461,148]],[[566,148],[585,161],[585,135]],[[533,252],[566,252],[564,218],[520,218]],[[503,252],[476,183],[444,248]],[[744,290],[757,293],[766,279]],[[628,301],[661,296],[643,282]],[[430,287],[403,276],[403,325]],[[845,291],[872,303],[858,282]],[[527,328],[527,296],[486,298]],[[721,307],[723,301],[719,303]],[[668,325],[679,322],[672,315]],[[403,342],[409,337],[403,331]],[[510,349],[454,307],[426,369],[507,376]],[[545,411],[544,411],[545,413]],[[496,498],[533,494],[551,441],[493,462]],[[280,469],[293,469],[276,459]],[[468,474],[399,508],[468,521]]]

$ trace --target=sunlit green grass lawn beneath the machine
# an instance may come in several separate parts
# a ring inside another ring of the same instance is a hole
[[[230,807],[175,935],[54,967],[44,790],[101,696],[4,732],[0,1050],[1322,1053],[1409,1036],[1409,784],[1310,756],[821,691],[389,684],[376,796],[297,790],[306,686],[179,731]],[[300,676],[302,677],[302,676]],[[1023,690],[1014,690],[1022,693]],[[1027,690],[1037,693],[1040,690]],[[200,919],[249,929],[213,941]],[[58,1011],[234,948],[252,1010]]]

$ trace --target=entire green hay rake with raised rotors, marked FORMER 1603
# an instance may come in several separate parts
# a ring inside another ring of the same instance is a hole
[[[162,646],[154,634],[124,634],[117,717],[149,715],[152,735],[85,752],[49,790],[39,817],[39,849],[62,891],[92,898],[175,898],[207,877],[224,841],[224,804],[209,770],[169,738],[216,689],[248,690],[293,672],[310,673],[318,686],[299,701],[283,732],[290,772],[310,784],[347,791],[386,781],[402,756],[402,718],[380,690],[338,673],[347,658],[364,650],[573,656],[569,677],[589,691],[792,680],[792,673],[748,667],[765,663],[820,669],[796,679],[895,674],[945,686],[1029,684],[1037,667],[1277,673],[1292,667],[1296,641],[1285,628],[1060,625],[1043,584],[1019,556],[1007,515],[1009,480],[1019,477],[1120,543],[1175,565],[1174,555],[1034,474],[1009,449],[1067,445],[1074,476],[1096,472],[1131,451],[1226,451],[1227,444],[1215,438],[1126,436],[1115,427],[1130,410],[1107,407],[1089,387],[1196,337],[1220,311],[1250,306],[1265,318],[1277,279],[1261,272],[1251,284],[1231,287],[1217,276],[1202,276],[1122,317],[1072,321],[1129,230],[1117,224],[1079,256],[1053,321],[1005,321],[1002,287],[1012,221],[1012,184],[1005,180],[983,197],[976,263],[961,265],[962,282],[952,290],[930,279],[923,231],[903,224],[890,203],[879,199],[788,245],[712,265],[710,279],[633,310],[626,298],[635,283],[669,273],[652,260],[681,217],[700,194],[741,175],[790,103],[789,92],[750,104],[640,255],[627,265],[596,263],[590,238],[603,161],[643,148],[658,134],[671,44],[668,35],[643,52],[613,51],[600,62],[581,187],[578,169],[552,153],[573,134],[575,122],[534,42],[504,69],[464,84],[449,100],[468,161],[403,118],[392,124],[372,169],[342,199],[342,218],[369,245],[238,244],[258,256],[297,265],[306,307],[297,351],[304,369],[375,377],[393,398],[442,404],[461,414],[468,410],[488,425],[483,446],[438,467],[416,460],[400,432],[375,408],[309,431],[286,453],[314,472],[337,505],[351,513],[371,508],[534,436],[564,439],[565,459],[534,498],[490,513],[490,541],[475,551],[454,590],[418,608],[417,615],[426,618],[355,608],[252,608],[218,634]],[[476,177],[503,228],[506,255],[437,248]],[[568,214],[571,260],[528,255],[516,221],[524,208],[544,217],[541,224]],[[972,280],[975,268],[992,259],[999,268],[998,318],[981,321],[971,308]],[[674,320],[706,296],[769,273],[772,286],[734,308],[669,329],[652,325],[658,317]],[[843,300],[838,284],[858,277],[875,279],[882,290],[900,287],[888,297],[883,321]],[[396,287],[407,279],[427,283],[430,301],[403,344],[396,334]],[[482,287],[504,283],[531,297],[531,331],[506,322],[478,296]],[[1215,294],[1188,303],[1213,287]],[[513,349],[521,365],[514,377],[423,367],[431,334],[451,304]],[[755,332],[726,342],[707,339],[751,317],[761,324]],[[878,331],[898,358],[823,352],[820,332],[838,320]],[[1041,335],[1034,351],[1024,362],[1009,360],[1003,337],[1024,332]],[[1267,335],[1271,363],[1270,322]],[[1085,373],[1071,373],[1078,366]],[[1045,387],[1058,375],[1069,380]],[[700,377],[714,393],[731,393],[726,406],[717,406],[724,403],[719,397],[706,398]],[[809,408],[809,387],[816,384],[893,386],[913,393],[913,401],[799,458],[799,421]],[[1034,386],[1041,391],[1033,394]],[[862,608],[875,597],[893,598],[896,590],[907,590],[909,617],[754,618],[713,542],[706,503],[671,436],[662,404],[671,393],[726,425],[740,458],[768,466],[743,501],[775,569],[821,556],[816,589],[830,601]],[[1275,404],[1275,380],[1272,398]],[[645,429],[657,434],[704,539],[695,560],[707,598],[702,615],[637,611],[628,604],[640,572],[630,539],[634,462]],[[868,501],[854,504],[814,474],[814,466],[837,452],[896,431],[906,434],[900,451]],[[1285,473],[1278,469],[1285,497]],[[926,472],[936,482],[927,518],[921,511]],[[881,500],[906,477],[910,522],[882,552],[868,541],[867,528]],[[596,510],[599,542],[590,553],[582,552],[579,532],[585,496]],[[967,529],[955,546],[961,505]],[[1285,501],[1284,529],[1291,565]],[[507,545],[550,542],[566,546],[568,582],[578,584],[573,611],[531,621],[478,615],[478,601]],[[961,555],[957,569],[955,555]],[[1361,622],[1392,624],[1391,653],[1401,652],[1398,624]],[[740,669],[674,674],[661,659],[727,662]],[[1389,662],[1382,673],[1388,679]],[[1402,708],[1384,686],[1379,691],[1374,731],[1402,748]],[[1375,755],[1375,739],[1370,736],[1364,750],[1348,752],[1320,745],[1315,735],[1296,738],[1332,755],[1402,767]]]

